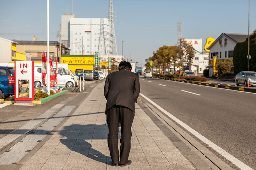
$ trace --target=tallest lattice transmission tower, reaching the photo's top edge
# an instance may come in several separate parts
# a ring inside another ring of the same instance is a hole
[[[109,0],[109,16],[108,16],[108,31],[107,31],[107,40],[108,40],[108,49],[107,49],[107,55],[113,55],[114,54],[114,51],[116,51],[116,55],[117,54],[117,46],[116,46],[116,34],[115,34],[115,28],[114,28],[114,20],[113,17],[116,17],[113,15],[113,13],[116,13],[116,12],[113,12],[113,1],[112,0]],[[110,46],[110,42],[113,43],[113,47]],[[110,50],[112,49],[112,50]]]

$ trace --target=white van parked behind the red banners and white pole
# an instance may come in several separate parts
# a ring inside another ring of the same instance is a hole
[[[54,68],[54,71],[56,69]],[[46,76],[47,77],[47,74]],[[58,67],[58,86],[59,87],[67,87],[71,88],[75,86],[74,77],[68,75],[64,68]],[[45,80],[45,84],[47,85],[47,78]],[[34,87],[39,88],[42,86],[42,67],[34,67]]]

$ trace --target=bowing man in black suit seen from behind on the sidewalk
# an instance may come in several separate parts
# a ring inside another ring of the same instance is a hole
[[[135,112],[135,101],[140,94],[139,76],[131,72],[132,65],[128,61],[121,61],[118,72],[109,74],[105,81],[104,96],[107,99],[106,115],[109,127],[108,147],[111,164],[118,166],[118,125],[121,122],[120,165],[132,163],[128,160],[131,150],[132,122]]]

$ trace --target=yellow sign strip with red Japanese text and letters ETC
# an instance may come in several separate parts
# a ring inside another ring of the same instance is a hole
[[[60,59],[61,64],[68,65],[93,65],[94,57],[62,57]]]

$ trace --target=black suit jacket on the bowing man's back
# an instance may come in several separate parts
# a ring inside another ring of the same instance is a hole
[[[105,81],[104,96],[107,99],[106,111],[115,104],[135,112],[135,101],[140,94],[139,76],[127,70],[109,74]]]

